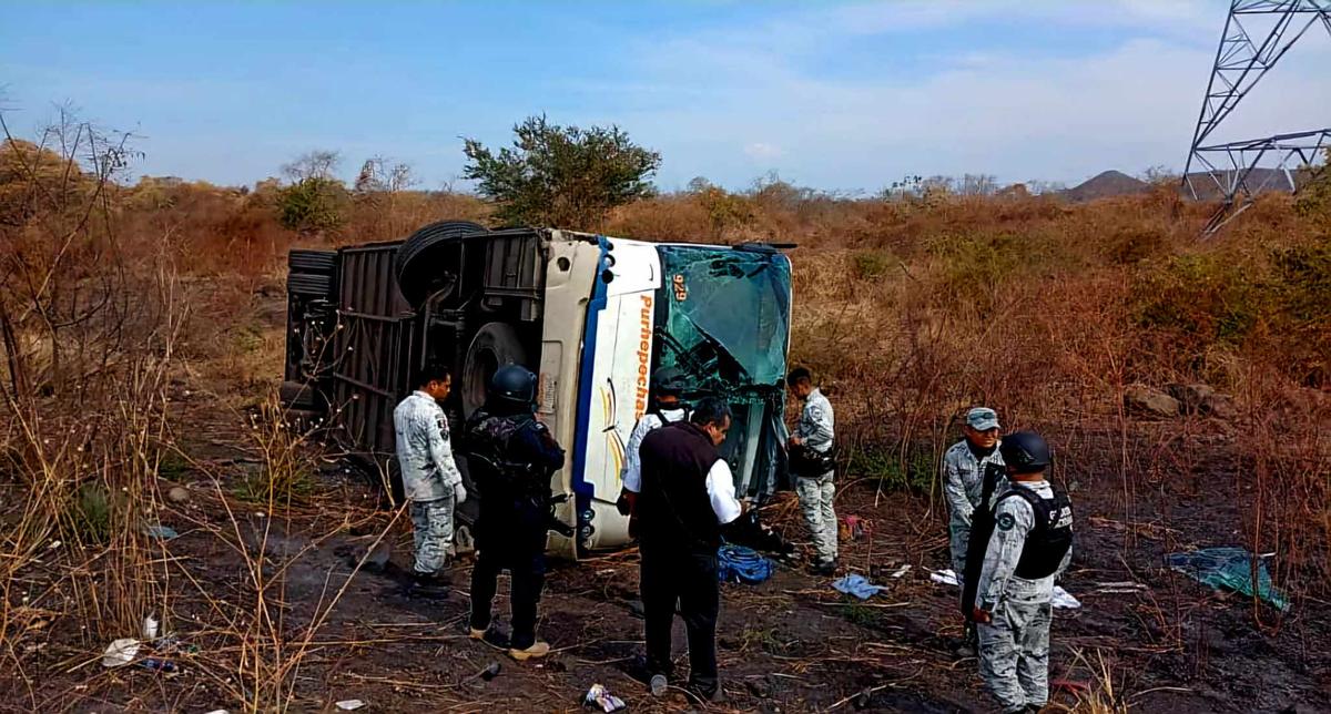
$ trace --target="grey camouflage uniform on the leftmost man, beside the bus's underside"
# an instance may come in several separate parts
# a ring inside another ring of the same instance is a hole
[[[415,572],[443,566],[453,545],[454,489],[462,472],[453,460],[449,419],[430,395],[417,391],[393,410],[402,489],[411,501]]]

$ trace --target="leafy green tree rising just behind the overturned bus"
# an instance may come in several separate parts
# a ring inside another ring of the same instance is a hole
[[[662,157],[618,126],[559,126],[544,116],[512,128],[512,148],[491,152],[466,140],[463,177],[478,182],[510,225],[591,229],[610,209],[654,195]]]

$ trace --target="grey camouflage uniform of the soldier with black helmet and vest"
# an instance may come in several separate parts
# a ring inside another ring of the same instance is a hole
[[[1054,497],[1047,481],[1014,484],[1041,499]],[[1049,624],[1053,618],[1054,581],[1067,568],[1071,549],[1054,574],[1026,580],[1013,572],[1022,557],[1036,513],[1021,497],[1008,497],[994,512],[994,533],[985,550],[976,606],[992,621],[980,625],[980,675],[1004,711],[1049,702]]]

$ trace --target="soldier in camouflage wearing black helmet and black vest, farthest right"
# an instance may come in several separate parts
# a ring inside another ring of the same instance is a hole
[[[1013,433],[1001,451],[1012,487],[996,501],[977,582],[980,675],[1002,711],[1040,711],[1049,702],[1051,601],[1071,558],[1073,512],[1045,480],[1044,439]]]

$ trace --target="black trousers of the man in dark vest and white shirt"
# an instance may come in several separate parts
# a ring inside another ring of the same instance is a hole
[[[673,673],[671,626],[675,606],[684,618],[688,636],[688,683],[711,697],[716,693],[716,614],[720,585],[716,581],[716,552],[642,548],[643,616],[647,621],[648,674]]]

